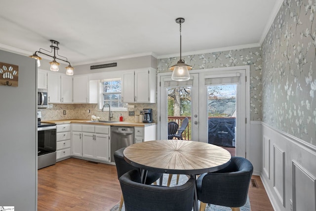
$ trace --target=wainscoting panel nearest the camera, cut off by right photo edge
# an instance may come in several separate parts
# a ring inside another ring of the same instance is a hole
[[[316,211],[316,178],[297,162],[293,168],[293,211]],[[304,194],[302,194],[304,193]]]

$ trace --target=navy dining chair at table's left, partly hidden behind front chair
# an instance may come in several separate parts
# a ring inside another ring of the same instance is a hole
[[[118,179],[119,177],[121,177],[124,173],[126,173],[127,171],[130,170],[137,170],[137,172],[140,175],[140,169],[133,167],[132,165],[128,164],[125,160],[124,160],[124,154],[123,151],[126,147],[118,149],[117,151],[114,152],[114,160],[115,160],[115,164],[117,167],[117,172],[118,172]],[[154,182],[156,182],[159,179],[159,183],[160,185],[162,184],[162,173],[155,173],[155,172],[151,172],[148,171],[147,173],[147,177],[146,177],[146,184],[152,184]],[[123,206],[123,195],[121,195],[120,198],[120,203],[119,203],[119,211],[122,209]]]

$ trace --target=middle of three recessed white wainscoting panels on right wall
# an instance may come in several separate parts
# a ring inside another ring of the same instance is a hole
[[[285,152],[280,150],[276,144],[273,145],[273,163],[273,186],[280,203],[285,206]]]

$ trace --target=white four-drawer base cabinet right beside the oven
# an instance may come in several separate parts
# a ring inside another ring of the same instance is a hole
[[[71,156],[71,126],[70,124],[57,125],[56,131],[56,161]]]

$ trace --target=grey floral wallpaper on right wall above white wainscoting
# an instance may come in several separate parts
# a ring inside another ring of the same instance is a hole
[[[316,0],[284,0],[262,44],[263,122],[316,145]]]

